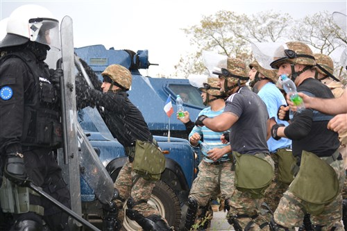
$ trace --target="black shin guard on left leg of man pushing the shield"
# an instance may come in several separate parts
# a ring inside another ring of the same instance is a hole
[[[115,202],[103,205],[103,231],[121,230],[121,222],[117,219],[118,207]]]

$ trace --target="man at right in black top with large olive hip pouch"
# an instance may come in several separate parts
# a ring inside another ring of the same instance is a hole
[[[316,61],[307,44],[287,42],[276,49],[274,57],[271,67],[278,69],[278,75],[287,74],[298,92],[325,99],[334,97],[328,87],[314,79]],[[294,113],[289,126],[276,124],[271,128],[274,139],[292,140],[297,165],[296,176],[274,213],[274,229],[294,229],[301,225],[304,214],[310,213],[316,230],[343,230],[341,189],[345,171],[338,151],[338,134],[327,129],[331,118],[305,109]]]

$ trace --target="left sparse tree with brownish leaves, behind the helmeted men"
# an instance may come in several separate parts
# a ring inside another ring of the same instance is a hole
[[[251,42],[276,42],[284,37],[291,20],[289,15],[281,15],[271,10],[251,17],[226,10],[218,11],[215,15],[203,16],[200,24],[183,28],[196,51],[180,59],[176,65],[176,73],[183,76],[188,76],[189,73],[203,74],[203,50],[251,62]],[[188,63],[192,68],[182,68]]]

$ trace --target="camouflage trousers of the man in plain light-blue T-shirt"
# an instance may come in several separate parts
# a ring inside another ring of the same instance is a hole
[[[271,153],[270,156],[275,163],[275,177],[273,178],[269,188],[265,191],[264,202],[269,205],[271,212],[275,212],[278,203],[280,203],[280,199],[285,191],[287,191],[289,185],[278,180],[278,155]]]

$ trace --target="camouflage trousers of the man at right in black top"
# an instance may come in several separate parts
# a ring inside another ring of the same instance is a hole
[[[311,214],[311,221],[313,225],[323,225],[322,231],[330,230],[334,225],[339,224],[335,230],[344,230],[341,225],[342,214],[342,196],[341,189],[344,186],[345,169],[342,160],[336,160],[330,164],[337,174],[339,180],[339,194],[337,198],[328,205],[325,205],[321,214],[314,216]],[[305,216],[304,209],[305,201],[301,200],[290,191],[286,191],[280,200],[273,218],[276,223],[286,228],[294,229],[303,223]]]

